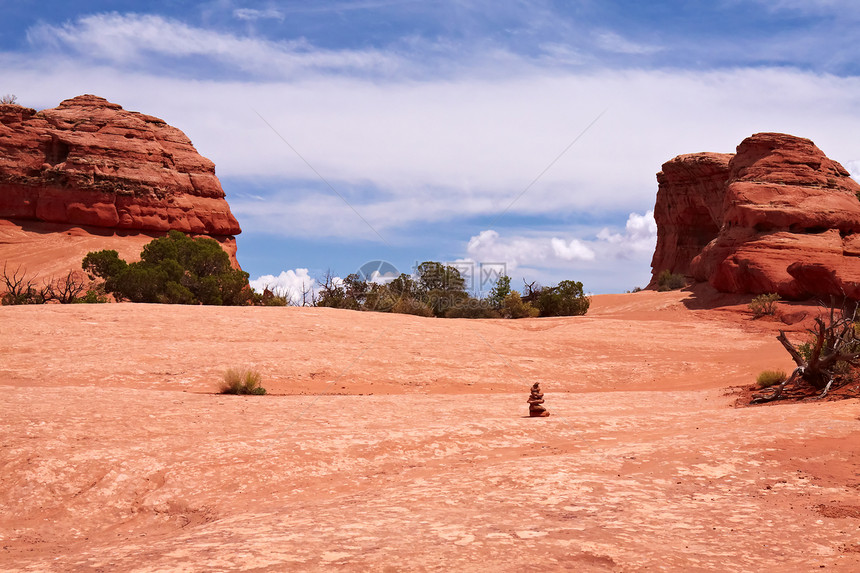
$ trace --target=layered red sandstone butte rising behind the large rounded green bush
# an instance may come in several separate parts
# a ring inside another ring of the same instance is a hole
[[[238,266],[241,229],[215,165],[182,131],[94,95],[39,112],[0,105],[4,260],[51,274],[98,248],[136,258],[172,229],[218,240]]]

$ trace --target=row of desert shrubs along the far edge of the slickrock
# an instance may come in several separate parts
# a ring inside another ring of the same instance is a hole
[[[500,276],[489,294],[476,297],[466,290],[457,268],[425,261],[413,274],[401,273],[386,283],[358,274],[337,279],[331,272],[319,289],[292,293],[265,288],[251,290],[248,273],[234,269],[220,244],[210,238],[191,238],[171,231],[144,246],[140,261],[128,263],[112,249],[92,251],[81,271],[39,285],[20,268],[4,267],[2,303],[41,304],[49,301],[116,301],[256,306],[319,306],[349,310],[393,312],[437,318],[530,318],[576,316],[588,312],[591,299],[583,284],[564,280],[555,286],[523,281],[522,294],[511,278]]]

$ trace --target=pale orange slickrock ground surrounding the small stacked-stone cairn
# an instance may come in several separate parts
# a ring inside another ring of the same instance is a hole
[[[0,570],[858,570],[858,401],[733,408],[785,325],[702,296],[0,307]]]

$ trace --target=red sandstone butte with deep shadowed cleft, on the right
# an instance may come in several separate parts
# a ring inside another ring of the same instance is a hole
[[[663,164],[654,288],[664,270],[721,292],[860,299],[860,184],[815,144],[758,133],[735,154]]]

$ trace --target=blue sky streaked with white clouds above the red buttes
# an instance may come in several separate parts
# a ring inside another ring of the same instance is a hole
[[[468,260],[623,292],[650,275],[675,155],[780,131],[860,172],[848,0],[0,9],[0,93],[94,93],[182,129],[217,166],[240,263],[293,288]]]

